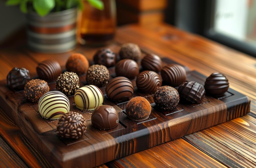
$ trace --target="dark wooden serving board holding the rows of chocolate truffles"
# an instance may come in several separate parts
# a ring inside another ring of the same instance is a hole
[[[173,63],[163,58],[164,63]],[[114,68],[109,68],[111,78]],[[86,85],[85,76],[79,76],[81,86]],[[206,76],[187,69],[187,81],[204,84]],[[250,111],[250,100],[229,90],[221,97],[205,96],[201,104],[179,103],[171,111],[158,111],[153,94],[137,91],[135,80],[133,96],[144,96],[151,103],[152,112],[144,121],[132,121],[125,114],[128,102],[113,102],[106,97],[103,104],[112,105],[119,113],[119,124],[109,130],[99,130],[91,124],[91,112],[76,109],[74,97],[70,96],[71,111],[79,112],[87,120],[87,131],[79,140],[61,139],[56,135],[58,120],[47,120],[38,113],[38,104],[30,103],[23,91],[9,89],[6,81],[0,85],[0,108],[20,127],[22,133],[40,150],[54,167],[94,167],[133,153],[175,140],[184,135],[212,127],[213,125],[243,116]],[[55,90],[55,83],[49,83]]]

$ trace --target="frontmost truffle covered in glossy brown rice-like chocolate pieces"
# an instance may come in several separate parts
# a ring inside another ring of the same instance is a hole
[[[85,134],[87,127],[81,114],[70,111],[59,118],[56,129],[58,136],[77,140]]]

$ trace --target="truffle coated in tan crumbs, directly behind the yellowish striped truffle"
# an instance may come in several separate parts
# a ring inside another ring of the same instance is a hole
[[[97,87],[104,87],[109,79],[108,68],[104,65],[91,65],[86,74],[86,81],[89,85],[96,85]]]

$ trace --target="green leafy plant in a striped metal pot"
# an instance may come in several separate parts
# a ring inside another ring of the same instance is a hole
[[[60,53],[73,50],[77,44],[77,9],[84,0],[7,0],[6,5],[19,5],[27,17],[28,47],[36,52]],[[103,9],[101,0],[86,0]]]

